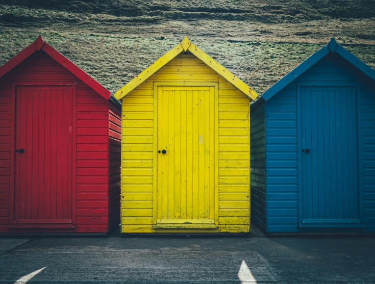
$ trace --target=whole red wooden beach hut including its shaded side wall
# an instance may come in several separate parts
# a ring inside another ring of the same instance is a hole
[[[118,225],[120,141],[110,91],[39,36],[0,67],[0,233]]]

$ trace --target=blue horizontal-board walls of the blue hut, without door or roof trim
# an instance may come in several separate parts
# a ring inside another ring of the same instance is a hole
[[[298,209],[301,208],[298,201],[297,155],[297,84],[304,82],[327,85],[338,82],[361,84],[361,113],[358,116],[362,125],[359,137],[362,142],[359,151],[359,210],[361,221],[366,226],[361,231],[375,231],[375,84],[336,53],[330,53],[322,58],[264,102],[266,121],[262,125],[265,125],[266,136],[266,184],[259,186],[258,180],[261,180],[261,176],[256,173],[256,169],[262,165],[258,160],[261,156],[254,156],[254,161],[251,161],[252,179],[255,179],[255,182],[252,180],[252,215],[255,215],[253,221],[260,224],[268,233],[306,231],[298,227]],[[254,106],[260,109],[259,104]],[[253,112],[257,110],[252,109],[252,159],[253,143],[259,143],[259,137],[253,136],[253,127],[259,131],[259,122],[256,123],[257,114]],[[266,213],[260,214],[264,208],[260,204],[263,196],[266,197]]]

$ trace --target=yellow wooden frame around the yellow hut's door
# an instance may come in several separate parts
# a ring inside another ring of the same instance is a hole
[[[153,132],[153,225],[157,225],[158,209],[158,87],[214,87],[215,95],[215,225],[219,224],[219,84],[217,82],[154,82],[154,132]],[[194,226],[194,228],[197,226]],[[207,227],[203,225],[202,227]],[[178,226],[176,226],[178,228]]]

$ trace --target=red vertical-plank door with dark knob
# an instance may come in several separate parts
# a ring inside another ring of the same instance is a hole
[[[14,89],[13,226],[73,227],[75,88]]]

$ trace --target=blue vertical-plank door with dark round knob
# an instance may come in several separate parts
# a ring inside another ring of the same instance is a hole
[[[361,227],[356,87],[301,87],[301,228]]]

